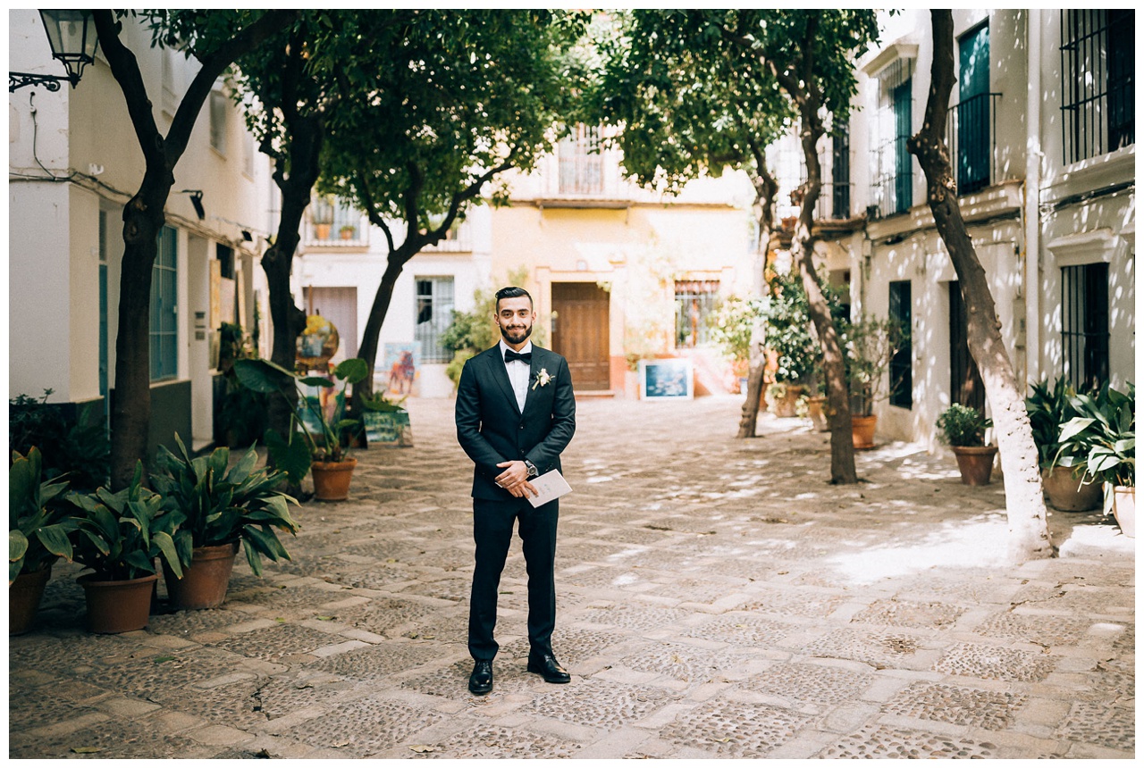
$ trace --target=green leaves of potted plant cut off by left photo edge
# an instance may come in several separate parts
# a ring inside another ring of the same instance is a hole
[[[8,467],[8,584],[17,576],[50,568],[57,558],[71,560],[67,534],[76,528],[61,496],[63,480],[41,481],[42,458],[38,448],[27,456],[11,453]]]

